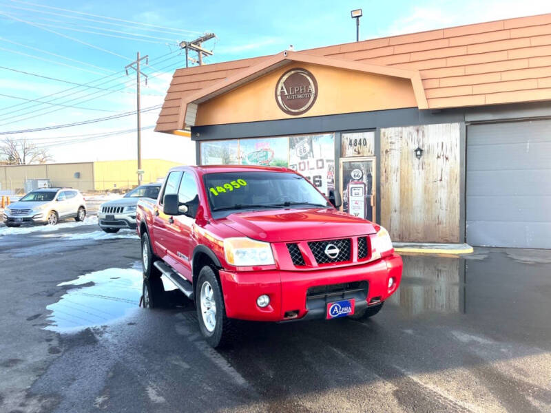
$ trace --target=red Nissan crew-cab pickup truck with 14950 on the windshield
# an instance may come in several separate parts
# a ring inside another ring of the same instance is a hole
[[[177,167],[136,210],[143,299],[169,277],[196,304],[202,335],[231,340],[235,319],[371,317],[395,293],[402,258],[386,230],[337,210],[286,168]]]

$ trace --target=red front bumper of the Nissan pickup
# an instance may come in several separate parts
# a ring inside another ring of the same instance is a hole
[[[391,277],[394,279],[393,286],[388,288]],[[393,295],[401,278],[402,257],[397,254],[368,264],[313,271],[220,270],[227,316],[250,321],[324,319],[326,304],[342,298],[312,300],[307,299],[306,295],[309,288],[334,284],[366,285],[365,290],[357,288],[354,293],[344,295],[344,299],[355,299],[357,313]],[[262,294],[270,297],[270,304],[265,308],[256,305],[256,299]]]

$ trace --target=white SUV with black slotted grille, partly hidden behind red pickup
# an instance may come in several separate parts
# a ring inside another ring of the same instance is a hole
[[[157,199],[161,184],[143,184],[125,193],[123,198],[103,202],[98,210],[98,225],[107,233],[121,228],[136,229],[136,204],[140,198]]]

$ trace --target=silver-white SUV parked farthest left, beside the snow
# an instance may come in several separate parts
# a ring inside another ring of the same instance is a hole
[[[65,218],[83,221],[85,217],[85,199],[78,189],[72,188],[35,189],[10,204],[3,213],[6,226],[55,225]]]

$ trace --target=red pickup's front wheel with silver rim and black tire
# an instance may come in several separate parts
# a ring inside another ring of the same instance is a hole
[[[236,335],[235,321],[226,317],[222,288],[209,266],[201,268],[196,297],[199,328],[207,343],[214,348],[231,343]]]

